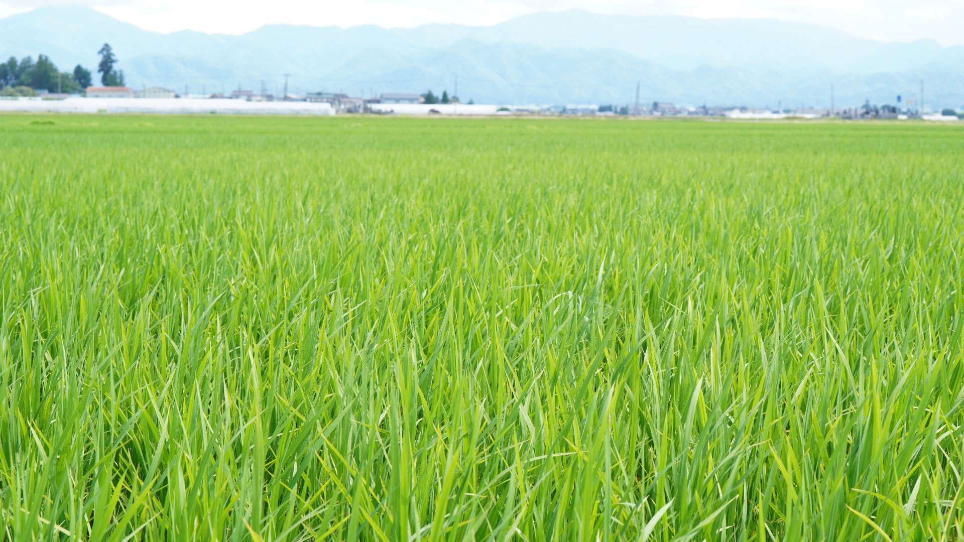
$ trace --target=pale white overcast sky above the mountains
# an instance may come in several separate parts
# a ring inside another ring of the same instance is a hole
[[[930,38],[964,45],[964,0],[0,0],[0,17],[64,5],[92,6],[159,32],[241,34],[268,23],[490,25],[521,14],[581,8],[601,14],[774,17],[833,26],[873,40]]]

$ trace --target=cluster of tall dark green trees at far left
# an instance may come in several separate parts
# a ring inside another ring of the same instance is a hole
[[[105,87],[124,86],[123,70],[115,69],[118,60],[110,44],[97,51],[100,63],[97,71],[100,82]],[[77,65],[73,72],[60,71],[44,54],[33,57],[27,56],[19,61],[16,57],[0,64],[0,95],[37,95],[36,91],[46,90],[51,93],[76,94],[84,92],[93,83],[91,70]]]

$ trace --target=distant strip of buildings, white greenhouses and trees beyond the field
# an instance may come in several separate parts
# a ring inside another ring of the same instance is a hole
[[[118,61],[110,44],[104,43],[98,55],[100,85],[94,85],[91,71],[79,65],[72,72],[61,72],[43,54],[38,56],[36,62],[32,57],[19,61],[11,57],[6,63],[0,64],[0,111],[721,117],[758,120],[839,118],[948,122],[964,119],[964,111],[929,111],[924,106],[923,82],[919,97],[904,99],[898,95],[894,104],[876,105],[868,100],[863,105],[844,108],[693,107],[663,101],[640,103],[638,91],[631,104],[500,105],[476,104],[471,99],[463,103],[454,93],[448,95],[447,90],[443,90],[441,95],[435,95],[430,90],[424,93],[385,92],[369,97],[323,91],[296,94],[288,93],[286,82],[281,95],[267,93],[263,85],[260,92],[239,86],[230,92],[201,94],[189,94],[188,89],[178,94],[172,89],[156,86],[136,89],[124,84],[123,71],[115,68]],[[832,90],[830,94],[832,101]],[[144,101],[126,101],[130,99]]]

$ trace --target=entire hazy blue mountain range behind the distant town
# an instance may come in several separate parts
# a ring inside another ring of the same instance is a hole
[[[239,36],[143,30],[88,8],[0,19],[0,57],[43,53],[95,70],[109,42],[127,83],[191,94],[262,85],[350,95],[455,90],[482,103],[641,103],[964,108],[964,46],[879,42],[774,19],[603,15],[572,10],[494,26],[266,25]]]

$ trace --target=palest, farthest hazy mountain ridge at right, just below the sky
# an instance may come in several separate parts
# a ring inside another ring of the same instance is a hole
[[[572,10],[524,15],[492,27],[427,25],[395,31],[422,45],[473,38],[543,47],[606,48],[681,69],[833,68],[857,73],[961,66],[964,47],[936,41],[881,43],[812,24],[773,19],[700,19],[676,15],[602,15]]]

